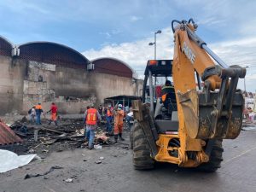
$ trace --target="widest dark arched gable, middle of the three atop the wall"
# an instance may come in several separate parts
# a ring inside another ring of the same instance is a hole
[[[17,46],[20,59],[41,61],[63,67],[86,68],[90,62],[79,51],[54,42],[29,42]]]

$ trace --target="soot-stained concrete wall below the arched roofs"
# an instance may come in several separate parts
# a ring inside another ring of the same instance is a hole
[[[81,113],[88,104],[100,104],[106,97],[136,96],[142,87],[130,78],[4,56],[0,56],[0,67],[0,115],[15,110],[26,113],[38,102],[47,110],[56,102],[61,113]],[[78,99],[67,101],[67,97]]]

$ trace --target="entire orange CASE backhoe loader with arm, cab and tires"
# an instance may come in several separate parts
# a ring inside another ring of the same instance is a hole
[[[240,134],[244,98],[236,87],[246,69],[226,65],[196,29],[193,19],[172,20],[173,60],[147,63],[143,100],[132,103],[136,169],[151,169],[158,161],[215,172],[223,160],[223,139]],[[173,81],[162,96],[156,92],[166,88],[153,83],[159,77]]]

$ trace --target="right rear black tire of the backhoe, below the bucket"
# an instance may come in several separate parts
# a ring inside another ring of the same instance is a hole
[[[201,164],[198,168],[202,172],[216,172],[220,168],[221,161],[223,161],[222,154],[224,149],[222,147],[222,139],[216,140],[212,146],[210,160],[207,163]]]

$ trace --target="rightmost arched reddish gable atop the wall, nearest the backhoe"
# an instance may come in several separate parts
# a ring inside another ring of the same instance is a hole
[[[121,77],[132,78],[134,70],[125,61],[113,57],[101,57],[91,61],[95,65],[95,72],[108,73]]]

